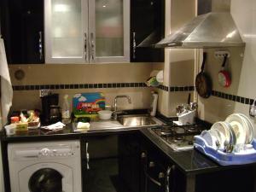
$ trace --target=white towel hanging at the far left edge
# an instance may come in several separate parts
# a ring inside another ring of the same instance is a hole
[[[13,88],[9,77],[9,68],[6,60],[3,38],[0,38],[0,77],[1,77],[1,108],[2,124],[7,123],[9,108],[13,101]]]

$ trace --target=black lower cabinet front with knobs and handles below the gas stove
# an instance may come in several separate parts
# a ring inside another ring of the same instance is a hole
[[[141,192],[182,192],[185,176],[160,149],[143,140],[140,154]]]

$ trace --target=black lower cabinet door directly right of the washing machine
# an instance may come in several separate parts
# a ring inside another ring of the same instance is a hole
[[[131,192],[119,177],[118,135],[83,137],[83,191]]]

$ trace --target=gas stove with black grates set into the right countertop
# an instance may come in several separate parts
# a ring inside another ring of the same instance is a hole
[[[203,130],[199,125],[163,125],[149,129],[175,151],[193,148],[194,136]]]

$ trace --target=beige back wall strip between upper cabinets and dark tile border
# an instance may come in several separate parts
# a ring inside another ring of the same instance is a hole
[[[46,64],[10,65],[12,83],[20,84],[93,84],[145,82],[152,71],[152,63],[122,64]],[[15,71],[22,69],[25,79],[16,80]]]

